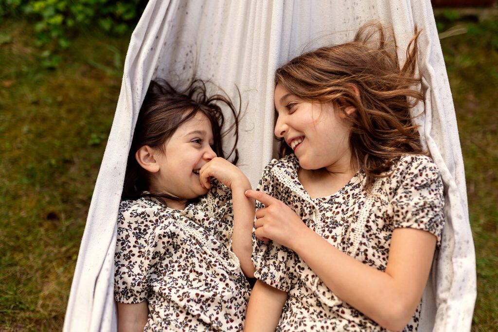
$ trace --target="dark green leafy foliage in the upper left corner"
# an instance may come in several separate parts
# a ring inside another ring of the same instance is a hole
[[[98,26],[113,35],[129,33],[145,4],[143,0],[0,0],[0,20],[28,18],[35,45],[44,49],[41,65],[55,68],[78,31]]]

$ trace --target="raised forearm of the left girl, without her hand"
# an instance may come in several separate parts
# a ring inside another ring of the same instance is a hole
[[[232,189],[234,205],[232,249],[241,262],[244,274],[252,278],[254,276],[254,265],[250,256],[252,254],[252,227],[254,224],[255,202],[245,195],[246,190],[249,189],[251,189],[249,180],[234,185]]]

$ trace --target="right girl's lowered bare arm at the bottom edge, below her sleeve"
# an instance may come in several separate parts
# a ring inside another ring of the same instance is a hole
[[[249,298],[244,331],[275,331],[286,300],[286,292],[257,280]]]

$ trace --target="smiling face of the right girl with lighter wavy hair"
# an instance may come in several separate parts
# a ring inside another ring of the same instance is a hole
[[[301,168],[326,168],[329,172],[351,168],[351,125],[346,115],[332,104],[306,102],[281,84],[275,87],[274,98],[278,113],[275,136],[283,137],[294,150]]]

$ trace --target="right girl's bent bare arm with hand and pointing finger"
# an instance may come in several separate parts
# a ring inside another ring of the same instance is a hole
[[[434,235],[396,228],[387,268],[382,272],[338,250],[282,202],[260,192],[249,191],[247,195],[265,205],[256,213],[258,238],[267,237],[294,250],[334,294],[380,326],[400,330],[407,324],[427,282],[436,245]]]

